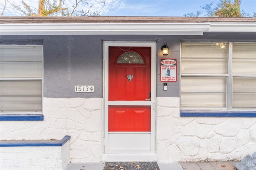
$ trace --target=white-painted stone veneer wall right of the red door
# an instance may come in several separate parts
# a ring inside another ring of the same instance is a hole
[[[179,98],[157,98],[159,161],[241,160],[256,151],[256,118],[180,117]]]

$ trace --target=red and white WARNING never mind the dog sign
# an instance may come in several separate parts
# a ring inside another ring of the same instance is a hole
[[[177,82],[177,59],[160,59],[160,82]]]

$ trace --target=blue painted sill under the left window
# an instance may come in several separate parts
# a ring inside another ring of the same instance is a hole
[[[0,115],[0,121],[43,121],[44,115]]]

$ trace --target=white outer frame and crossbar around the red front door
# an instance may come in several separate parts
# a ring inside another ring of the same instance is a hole
[[[104,70],[104,87],[103,87],[103,97],[104,97],[104,135],[103,135],[103,142],[104,142],[104,148],[103,148],[103,153],[105,154],[105,156],[103,155],[102,158],[104,160],[104,158],[106,158],[106,154],[114,154],[114,155],[118,155],[118,154],[131,154],[134,153],[133,151],[129,152],[127,150],[123,150],[123,152],[120,153],[120,150],[118,150],[118,152],[116,152],[115,150],[112,149],[108,149],[109,144],[109,132],[108,132],[108,105],[120,105],[118,104],[118,101],[108,101],[108,50],[110,46],[122,46],[122,47],[151,47],[151,101],[128,101],[127,105],[150,105],[151,106],[151,132],[150,133],[150,150],[140,150],[140,149],[136,149],[138,152],[141,152],[139,154],[144,155],[145,154],[155,154],[156,152],[156,111],[155,111],[155,99],[156,99],[156,42],[103,42],[103,57],[104,57],[104,66],[103,66],[103,70]],[[115,134],[114,134],[115,135]],[[134,155],[134,154],[133,154]],[[118,156],[118,158],[120,158],[120,155]],[[126,159],[127,160],[128,156],[126,155]],[[122,159],[122,158],[121,158]],[[132,159],[134,159],[134,156],[132,156]],[[108,158],[106,158],[105,160],[108,160]],[[138,160],[137,160],[138,161]]]

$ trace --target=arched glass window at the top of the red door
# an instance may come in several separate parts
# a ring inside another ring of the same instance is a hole
[[[116,61],[118,64],[144,64],[143,58],[140,54],[128,51],[120,55]]]

